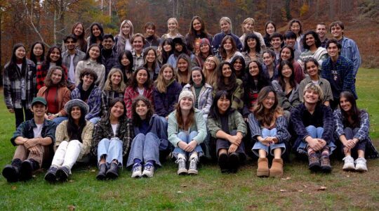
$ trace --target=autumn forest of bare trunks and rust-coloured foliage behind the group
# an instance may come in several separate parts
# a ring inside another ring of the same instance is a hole
[[[78,21],[84,23],[86,37],[93,22],[102,23],[105,33],[116,35],[125,19],[132,21],[135,33],[152,21],[161,36],[167,31],[168,18],[175,17],[180,34],[185,35],[194,15],[204,19],[211,34],[220,32],[222,16],[230,17],[233,32],[239,36],[241,23],[248,17],[255,19],[255,31],[262,35],[267,20],[273,20],[279,32],[288,30],[292,18],[302,21],[304,32],[320,22],[328,25],[342,20],[345,36],[357,42],[362,67],[379,67],[377,0],[0,0],[0,68],[11,58],[13,44],[24,43],[28,53],[34,41],[46,46],[62,44]]]

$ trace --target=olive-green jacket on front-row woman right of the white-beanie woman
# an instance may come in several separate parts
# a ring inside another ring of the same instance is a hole
[[[214,120],[212,117],[209,116],[207,123],[208,130],[211,133],[211,136],[213,138],[216,138],[217,132],[221,130],[221,121]],[[244,121],[244,117],[242,117],[241,113],[239,113],[237,110],[234,110],[233,113],[229,114],[227,124],[229,126],[230,132],[232,132],[233,130],[237,130],[237,132],[241,132],[243,136],[246,135],[247,127]]]

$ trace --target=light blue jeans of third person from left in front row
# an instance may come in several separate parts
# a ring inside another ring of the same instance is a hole
[[[98,144],[98,162],[104,156],[107,165],[110,165],[113,160],[117,160],[119,166],[122,166],[122,145],[122,141],[117,137],[110,140],[102,139]]]

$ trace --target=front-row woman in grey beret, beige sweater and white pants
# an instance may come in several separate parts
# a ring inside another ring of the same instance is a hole
[[[45,175],[46,181],[67,181],[72,166],[77,160],[88,155],[91,149],[93,124],[84,117],[88,106],[84,101],[74,99],[65,105],[68,120],[60,123],[55,130],[55,155]]]

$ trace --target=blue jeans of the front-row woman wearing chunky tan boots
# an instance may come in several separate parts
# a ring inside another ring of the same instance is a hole
[[[262,138],[265,139],[266,137],[277,136],[277,129],[276,128],[273,128],[273,129],[263,128],[261,130],[261,133],[262,133]],[[251,149],[251,151],[253,151],[253,153],[259,157],[259,150],[264,150],[268,154],[269,149],[270,149],[270,155],[274,156],[274,149],[276,148],[281,148],[282,155],[284,154],[284,152],[286,152],[286,144],[284,143],[271,143],[270,146],[265,146],[263,143],[260,143],[260,141],[257,141],[254,143],[254,146]]]

